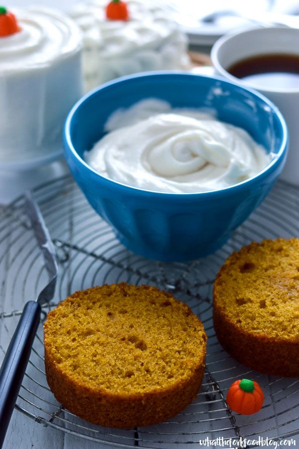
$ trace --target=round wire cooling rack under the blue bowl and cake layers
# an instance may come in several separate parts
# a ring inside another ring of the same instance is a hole
[[[252,240],[299,236],[299,188],[282,181],[263,205],[215,254],[190,263],[151,261],[127,250],[111,227],[91,209],[70,176],[33,191],[50,230],[59,260],[53,302],[43,307],[16,409],[49,429],[118,448],[180,449],[201,447],[205,439],[222,443],[258,436],[281,441],[299,436],[299,379],[283,379],[249,370],[219,345],[212,324],[212,285],[225,258]],[[35,299],[47,281],[43,257],[23,214],[20,197],[0,211],[0,361],[23,305]],[[170,291],[191,307],[208,335],[206,371],[196,400],[168,422],[128,431],[101,428],[65,410],[50,392],[44,372],[42,322],[49,309],[76,290],[125,281]],[[263,409],[241,416],[228,408],[230,384],[241,377],[258,381]],[[221,446],[223,447],[223,446]],[[248,444],[247,448],[256,447]]]

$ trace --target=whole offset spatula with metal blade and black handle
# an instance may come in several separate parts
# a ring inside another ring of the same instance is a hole
[[[49,282],[35,301],[28,301],[11,338],[0,369],[0,448],[2,447],[15,401],[28,364],[32,343],[40,321],[41,304],[54,295],[58,266],[55,248],[37,204],[25,194],[25,213],[28,215],[38,245],[43,253]]]

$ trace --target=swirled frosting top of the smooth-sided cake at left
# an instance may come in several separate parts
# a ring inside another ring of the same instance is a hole
[[[21,29],[0,38],[0,73],[47,67],[82,45],[79,28],[60,11],[40,6],[11,11]]]

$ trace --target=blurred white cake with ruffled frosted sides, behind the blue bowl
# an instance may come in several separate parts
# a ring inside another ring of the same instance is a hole
[[[86,91],[123,75],[189,66],[186,36],[169,11],[154,0],[127,0],[127,19],[112,20],[108,3],[87,0],[69,12],[83,31]]]

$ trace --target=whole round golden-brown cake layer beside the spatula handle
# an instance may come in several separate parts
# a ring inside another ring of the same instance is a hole
[[[44,344],[56,399],[104,427],[171,418],[196,397],[204,373],[202,323],[155,287],[121,283],[74,293],[48,314]]]

